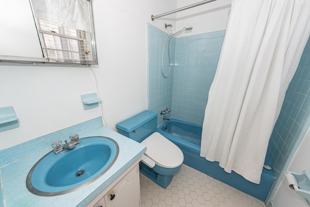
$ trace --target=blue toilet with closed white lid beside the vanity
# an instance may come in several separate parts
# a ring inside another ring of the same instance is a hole
[[[167,188],[183,163],[183,153],[170,140],[156,132],[157,113],[143,111],[116,125],[118,133],[146,146],[140,171],[162,188]]]

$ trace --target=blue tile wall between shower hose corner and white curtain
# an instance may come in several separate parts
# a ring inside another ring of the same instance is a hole
[[[202,125],[225,30],[176,38],[172,118]]]

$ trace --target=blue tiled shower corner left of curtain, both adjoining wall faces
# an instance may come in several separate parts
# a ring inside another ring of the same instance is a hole
[[[170,32],[170,31],[167,31]],[[161,73],[161,58],[168,33],[147,24],[148,109],[159,114],[171,109],[171,118],[202,125],[208,93],[213,81],[225,31],[171,38],[171,75]],[[168,73],[167,49],[163,68]]]

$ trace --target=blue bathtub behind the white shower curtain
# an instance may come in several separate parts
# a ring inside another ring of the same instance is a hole
[[[210,162],[200,157],[202,126],[171,119],[157,128],[164,137],[175,143],[184,154],[184,164],[207,174],[223,183],[243,191],[261,201],[266,201],[275,175],[272,170],[263,168],[260,184],[252,183],[232,171],[226,173],[218,162]],[[270,166],[268,159],[265,164]]]

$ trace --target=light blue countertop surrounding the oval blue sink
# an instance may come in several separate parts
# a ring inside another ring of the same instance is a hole
[[[26,177],[31,167],[44,155],[51,151],[51,147],[32,153],[26,157],[16,159],[0,166],[3,204],[5,207],[75,207],[85,206],[104,190],[113,180],[121,175],[130,165],[140,159],[146,147],[134,142],[123,135],[106,127],[98,127],[83,134],[80,138],[91,136],[105,136],[115,140],[119,145],[119,155],[113,166],[93,183],[67,194],[43,197],[32,194],[26,188]],[[54,140],[55,141],[55,140]],[[73,149],[74,150],[74,149]],[[1,158],[2,159],[2,158]],[[0,204],[0,207],[2,205]]]

